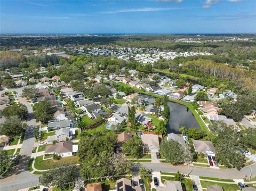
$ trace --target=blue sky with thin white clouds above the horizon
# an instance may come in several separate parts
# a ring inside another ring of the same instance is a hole
[[[0,0],[1,34],[256,33],[256,0]]]

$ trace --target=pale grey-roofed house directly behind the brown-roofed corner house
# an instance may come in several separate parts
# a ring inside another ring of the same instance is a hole
[[[47,137],[47,142],[53,142],[56,140],[57,142],[64,142],[66,140],[70,140],[73,138],[73,132],[70,131],[70,129],[66,128],[61,128],[57,131],[55,131],[55,135],[48,136]]]

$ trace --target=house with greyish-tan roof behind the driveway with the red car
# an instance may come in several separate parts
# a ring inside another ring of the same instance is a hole
[[[196,153],[203,153],[205,155],[215,155],[215,148],[212,142],[202,141],[202,140],[194,140],[193,145]]]

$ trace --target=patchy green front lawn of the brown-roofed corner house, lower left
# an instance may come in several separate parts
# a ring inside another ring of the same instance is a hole
[[[53,166],[57,166],[62,163],[74,163],[77,164],[79,160],[78,156],[67,156],[63,157],[60,160],[44,160],[43,161],[43,156],[37,156],[36,161],[35,161],[35,168],[38,170],[47,170],[52,168]]]

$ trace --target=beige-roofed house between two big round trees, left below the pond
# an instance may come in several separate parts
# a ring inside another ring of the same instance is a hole
[[[143,134],[140,137],[143,143],[143,149],[145,153],[147,151],[149,151],[150,153],[159,152],[160,147],[158,135]]]

